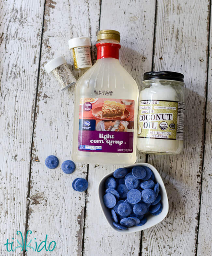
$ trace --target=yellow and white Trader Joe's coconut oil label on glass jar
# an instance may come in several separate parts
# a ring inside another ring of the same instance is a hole
[[[185,103],[142,100],[138,110],[138,137],[183,140]]]

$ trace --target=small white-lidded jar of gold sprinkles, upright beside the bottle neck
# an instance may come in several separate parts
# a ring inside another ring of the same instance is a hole
[[[89,37],[72,38],[68,41],[68,46],[73,53],[75,70],[88,69],[92,66]]]

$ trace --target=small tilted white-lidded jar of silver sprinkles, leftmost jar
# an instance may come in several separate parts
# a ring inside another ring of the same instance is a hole
[[[47,73],[52,73],[53,77],[59,83],[62,91],[77,82],[63,56],[59,56],[51,60],[44,66],[44,68]]]

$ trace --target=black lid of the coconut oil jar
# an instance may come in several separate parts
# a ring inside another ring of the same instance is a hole
[[[184,75],[172,71],[150,71],[144,73],[144,80],[162,79],[184,82]]]

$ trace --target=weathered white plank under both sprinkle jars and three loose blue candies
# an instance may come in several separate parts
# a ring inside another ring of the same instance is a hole
[[[95,7],[97,10],[91,17],[91,8]],[[60,166],[70,159],[74,88],[61,92],[43,66],[61,54],[70,64],[68,40],[79,36],[93,39],[96,35],[93,28],[99,22],[98,10],[98,1],[46,1],[45,6],[28,229],[33,231],[31,238],[45,239],[48,234],[48,243],[56,242],[54,255],[82,253],[85,192],[73,191],[71,184],[76,177],[86,177],[87,166],[78,164],[76,171],[68,175],[60,167],[50,170],[44,164],[45,158],[52,154],[57,155]],[[27,255],[34,254],[29,251]]]

